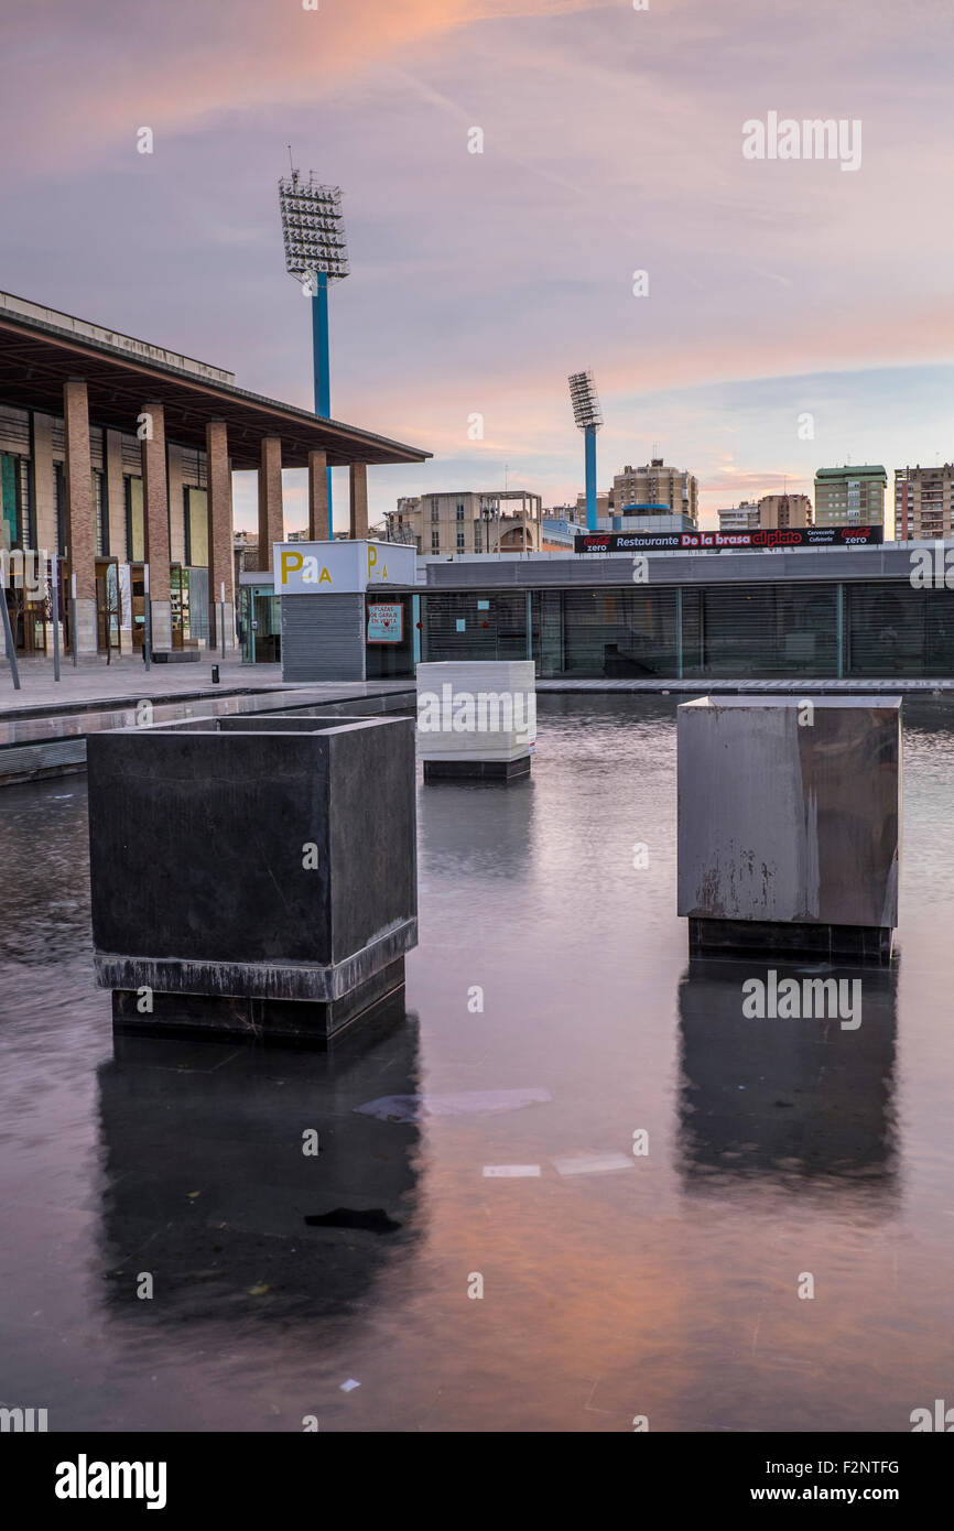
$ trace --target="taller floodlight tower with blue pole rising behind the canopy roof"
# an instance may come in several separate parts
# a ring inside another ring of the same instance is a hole
[[[341,214],[341,188],[308,181],[294,167],[279,181],[285,269],[311,295],[315,415],[331,416],[331,360],[328,343],[328,286],[351,273]],[[331,468],[328,468],[328,525],[331,528]]]

